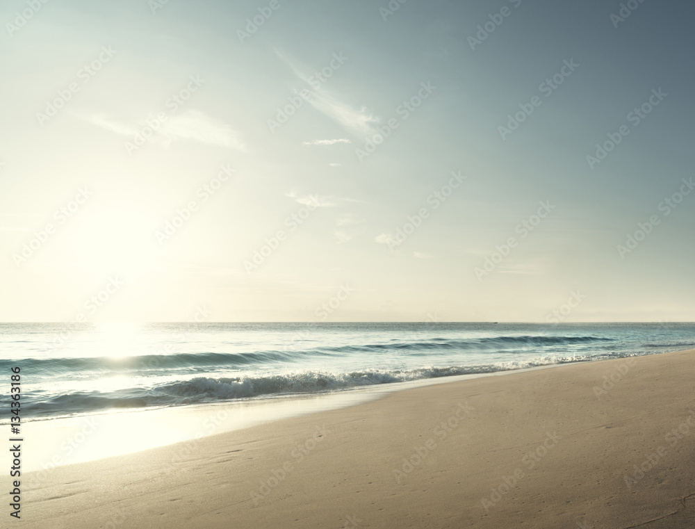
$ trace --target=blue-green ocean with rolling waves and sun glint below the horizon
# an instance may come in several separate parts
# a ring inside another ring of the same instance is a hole
[[[0,373],[9,388],[21,368],[22,416],[35,420],[689,348],[694,323],[5,323]]]

